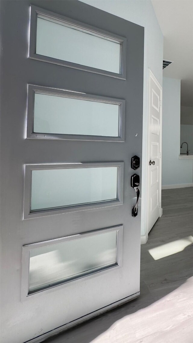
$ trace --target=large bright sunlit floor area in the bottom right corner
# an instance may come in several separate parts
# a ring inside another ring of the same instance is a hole
[[[193,277],[155,303],[116,321],[89,343],[191,343]]]

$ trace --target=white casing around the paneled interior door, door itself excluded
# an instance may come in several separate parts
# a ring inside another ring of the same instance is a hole
[[[161,165],[162,165],[162,87],[159,84],[158,80],[156,79],[155,75],[152,73],[152,71],[149,69],[148,73],[148,128],[147,128],[147,160],[146,160],[146,175],[147,175],[147,192],[146,192],[146,242],[148,239],[148,209],[149,209],[149,136],[150,136],[150,80],[152,79],[156,86],[160,90],[160,164],[159,164],[159,202],[160,202],[160,209],[159,209],[159,216],[162,216],[163,210],[161,207]],[[145,243],[146,243],[145,242]]]

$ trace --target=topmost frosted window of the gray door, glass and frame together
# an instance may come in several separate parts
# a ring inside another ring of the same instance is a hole
[[[29,58],[126,80],[126,55],[125,37],[30,6]]]

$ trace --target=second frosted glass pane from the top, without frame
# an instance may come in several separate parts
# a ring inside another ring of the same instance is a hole
[[[35,93],[33,132],[118,137],[119,110],[117,104]]]

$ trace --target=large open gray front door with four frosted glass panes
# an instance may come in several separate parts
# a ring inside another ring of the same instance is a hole
[[[118,71],[98,68],[100,54],[96,67],[77,63],[77,53],[67,62],[43,55],[44,39],[35,50],[34,16],[39,30],[51,25],[47,38],[69,29],[68,19],[72,34],[90,31],[99,45],[106,37],[112,59],[121,47]],[[139,295],[130,161],[142,152],[143,56],[143,27],[79,1],[1,1],[1,343],[40,342]],[[72,132],[58,128],[66,102],[76,109]],[[88,104],[87,128],[77,111],[86,116]],[[55,131],[36,112],[57,114]]]

